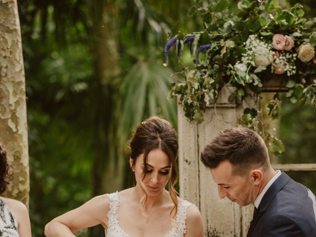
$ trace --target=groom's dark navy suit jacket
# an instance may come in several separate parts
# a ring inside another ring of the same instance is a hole
[[[247,237],[316,237],[316,198],[282,173],[263,196]]]

